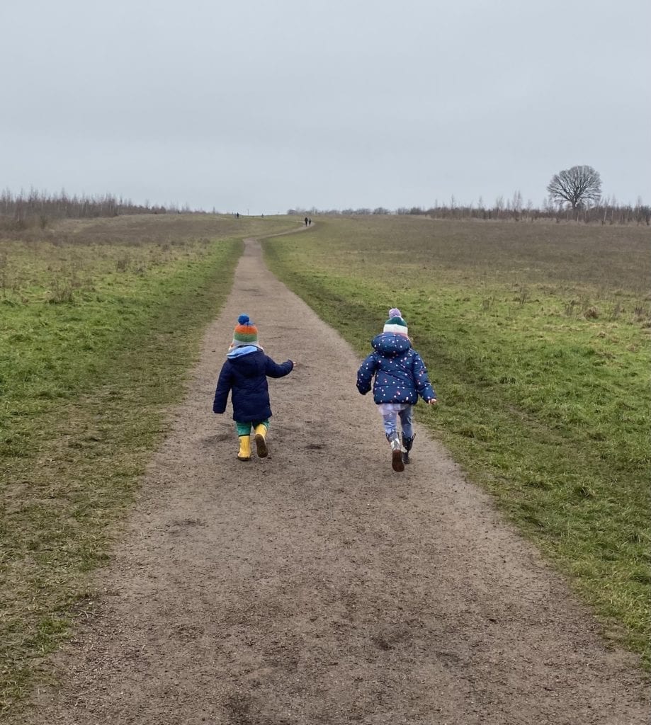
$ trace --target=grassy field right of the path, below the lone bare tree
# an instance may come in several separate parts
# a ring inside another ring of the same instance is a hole
[[[650,231],[326,218],[265,249],[360,356],[401,308],[419,421],[648,666]]]

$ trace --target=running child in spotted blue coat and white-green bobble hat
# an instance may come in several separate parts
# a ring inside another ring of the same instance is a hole
[[[407,323],[397,307],[389,310],[389,319],[382,334],[375,336],[371,345],[374,352],[357,371],[357,389],[366,395],[372,384],[373,399],[382,415],[391,447],[391,465],[394,471],[404,471],[415,437],[412,407],[416,405],[418,396],[429,405],[435,405],[436,393],[427,377],[422,357],[412,348]],[[398,418],[404,450],[398,436]]]

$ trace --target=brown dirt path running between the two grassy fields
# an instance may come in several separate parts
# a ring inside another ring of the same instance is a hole
[[[210,410],[240,312],[271,357],[300,362],[270,383],[271,457],[251,463]],[[30,723],[649,721],[634,659],[438,444],[419,431],[391,471],[358,364],[247,241],[98,616]]]

